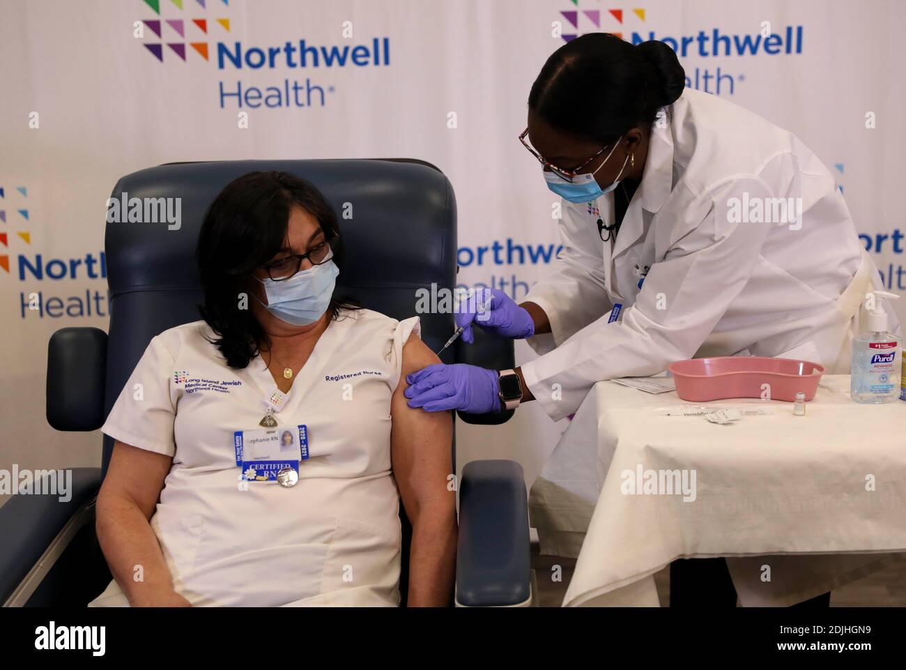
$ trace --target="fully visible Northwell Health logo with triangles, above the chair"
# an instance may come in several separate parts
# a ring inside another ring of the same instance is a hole
[[[213,66],[236,73],[236,78],[217,82],[220,109],[326,107],[336,87],[325,80],[336,70],[390,66],[390,37],[353,39],[351,22],[341,26],[336,44],[311,44],[298,34],[281,35],[273,44],[246,44],[242,25],[229,17],[236,0],[134,2],[150,10],[133,23],[133,34],[148,58],[168,68]],[[293,24],[279,23],[281,29]],[[295,76],[297,72],[304,75]]]

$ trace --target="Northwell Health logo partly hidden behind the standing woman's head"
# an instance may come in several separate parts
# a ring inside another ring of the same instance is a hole
[[[564,6],[564,0],[557,0],[557,4]],[[715,95],[733,95],[737,84],[746,81],[745,73],[732,65],[728,68],[722,59],[803,53],[802,25],[761,20],[757,23],[759,30],[747,34],[728,33],[713,26],[689,34],[663,34],[651,29],[650,19],[644,7],[604,8],[601,0],[572,0],[572,5],[562,9],[554,22],[554,36],[564,42],[572,42],[586,33],[611,33],[632,44],[660,40],[677,53],[686,68],[686,86]],[[689,64],[683,59],[696,63]]]

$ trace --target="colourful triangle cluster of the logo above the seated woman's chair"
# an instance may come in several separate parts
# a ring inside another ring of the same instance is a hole
[[[167,8],[168,12],[174,11],[173,7],[175,7],[178,12],[184,13],[176,14],[175,18],[163,17],[161,14],[161,0],[141,0],[141,2],[149,6],[154,11],[154,14],[157,15],[157,18],[142,20],[141,23],[153,34],[153,36],[150,36],[152,41],[143,42],[142,44],[160,63],[164,62],[164,53],[167,53],[169,58],[176,54],[178,59],[185,63],[188,60],[187,53],[189,48],[207,61],[209,57],[207,38],[210,34],[208,31],[217,31],[219,33],[229,33],[231,31],[229,18],[225,16],[217,16],[213,19],[207,16],[192,18],[188,17],[188,12],[185,8],[188,3],[196,11],[196,5],[199,5],[201,9],[207,12],[208,5],[219,7],[219,3],[223,3],[223,5],[228,7],[229,0],[194,0],[194,3],[192,0],[163,0],[163,6]],[[164,49],[165,46],[167,50]]]

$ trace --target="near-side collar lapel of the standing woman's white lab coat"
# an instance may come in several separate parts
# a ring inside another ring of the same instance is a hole
[[[657,122],[651,125],[648,157],[636,192],[637,198],[632,199],[623,217],[612,257],[618,256],[641,238],[644,232],[641,209],[656,214],[670,196],[670,189],[673,187],[673,137],[670,132],[670,110],[665,109],[665,113],[666,127],[658,128]]]

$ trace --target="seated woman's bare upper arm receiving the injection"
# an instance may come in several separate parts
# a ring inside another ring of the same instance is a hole
[[[442,501],[450,510],[456,506],[456,492],[448,487],[448,477],[453,472],[452,416],[448,412],[412,409],[403,395],[406,375],[435,363],[440,363],[437,354],[413,333],[403,346],[400,383],[390,405],[393,475],[413,522],[420,506],[428,501]]]

